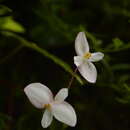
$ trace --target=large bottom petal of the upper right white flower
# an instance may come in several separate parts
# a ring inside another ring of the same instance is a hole
[[[80,74],[90,83],[95,83],[97,78],[97,70],[93,63],[84,62],[78,67]]]

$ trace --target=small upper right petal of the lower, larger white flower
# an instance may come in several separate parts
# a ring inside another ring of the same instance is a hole
[[[68,88],[62,88],[55,96],[55,101],[62,102],[68,97]]]

